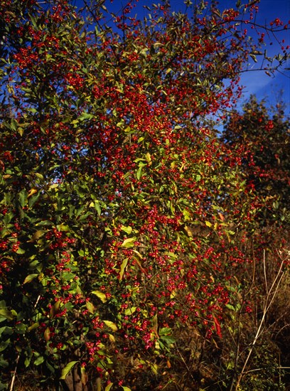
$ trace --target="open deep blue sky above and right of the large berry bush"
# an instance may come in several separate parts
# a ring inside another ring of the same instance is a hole
[[[194,0],[192,1],[194,3]],[[139,4],[134,10],[134,14],[137,13],[138,16],[142,18],[148,12],[147,10],[144,10],[144,6],[150,6],[151,4],[157,4],[159,2],[160,0],[139,0]],[[248,0],[242,0],[242,4],[247,2]],[[77,6],[83,6],[82,0],[73,0],[73,3]],[[89,0],[88,3],[90,3]],[[110,4],[110,2],[106,0],[105,4],[107,4],[108,9],[113,9],[114,12],[117,13],[124,5],[127,4],[127,0],[114,0],[113,4]],[[221,10],[232,8],[232,6],[235,6],[236,0],[220,0],[219,4]],[[185,8],[183,0],[171,0],[171,6],[173,9],[179,9],[181,11]],[[290,20],[290,0],[260,0],[259,13],[257,14],[256,20],[257,23],[264,25],[265,23],[273,21],[275,18],[280,18],[281,21],[284,21],[284,23],[287,23]],[[254,31],[250,28],[248,28],[248,31],[249,35],[254,36]],[[284,31],[282,35],[285,39],[285,46],[290,45],[290,23],[289,30]],[[279,38],[282,37],[279,36]],[[270,56],[279,51],[279,43],[277,43],[274,39],[272,42],[273,44],[271,46],[267,46],[267,53]],[[257,59],[259,60],[259,57]],[[259,62],[249,62],[250,69],[258,69],[259,66]],[[288,68],[290,68],[290,63]],[[263,71],[243,73],[241,83],[245,86],[245,99],[247,99],[250,94],[255,94],[258,99],[267,98],[269,104],[274,105],[276,103],[276,97],[279,95],[278,92],[283,90],[284,101],[288,104],[290,102],[289,70],[284,70],[284,75],[277,73],[275,77],[269,77]],[[290,112],[289,107],[287,112]]]

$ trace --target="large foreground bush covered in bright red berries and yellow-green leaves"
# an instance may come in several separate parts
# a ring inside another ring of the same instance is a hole
[[[257,6],[139,21],[129,4],[112,28],[101,2],[87,19],[65,1],[0,4],[3,387],[28,371],[50,390],[178,387],[178,336],[222,341],[254,258],[240,243],[264,200],[213,120],[259,53]]]

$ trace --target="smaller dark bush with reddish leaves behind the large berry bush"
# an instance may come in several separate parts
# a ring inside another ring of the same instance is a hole
[[[271,113],[252,96],[242,113],[230,114],[223,132],[232,148],[247,151],[242,164],[248,183],[265,200],[264,225],[290,223],[290,132],[284,106],[278,102]]]

